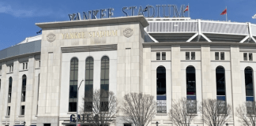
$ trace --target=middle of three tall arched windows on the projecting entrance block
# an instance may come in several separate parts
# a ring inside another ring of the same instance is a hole
[[[85,112],[92,112],[93,94],[93,58],[85,60]]]

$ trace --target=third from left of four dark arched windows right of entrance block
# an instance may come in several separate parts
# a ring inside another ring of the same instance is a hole
[[[216,98],[218,101],[218,113],[225,113],[226,109],[226,83],[225,69],[222,66],[216,68]]]

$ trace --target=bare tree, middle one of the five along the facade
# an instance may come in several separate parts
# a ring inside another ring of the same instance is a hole
[[[197,116],[197,101],[186,100],[186,98],[174,100],[168,114],[173,124],[178,126],[187,124],[189,126],[191,120]]]

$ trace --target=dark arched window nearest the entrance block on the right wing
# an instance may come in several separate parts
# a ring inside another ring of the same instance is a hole
[[[166,69],[164,66],[156,69],[156,100],[157,113],[166,113]]]

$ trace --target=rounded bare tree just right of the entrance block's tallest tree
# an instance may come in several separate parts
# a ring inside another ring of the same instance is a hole
[[[130,93],[123,98],[123,120],[134,126],[146,126],[156,115],[156,101],[152,95]]]

